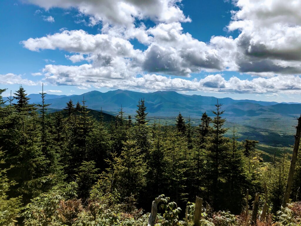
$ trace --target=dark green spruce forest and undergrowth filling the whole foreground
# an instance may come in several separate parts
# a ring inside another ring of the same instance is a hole
[[[291,204],[281,207],[292,155],[263,161],[258,141],[245,133],[238,142],[236,128],[226,127],[220,101],[210,114],[199,109],[198,126],[178,109],[172,126],[150,123],[144,99],[132,116],[120,108],[109,120],[84,99],[49,114],[45,93],[35,105],[22,86],[15,102],[4,91],[0,225],[300,225],[300,156]]]

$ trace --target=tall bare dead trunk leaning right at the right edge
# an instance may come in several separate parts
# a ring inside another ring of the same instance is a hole
[[[300,144],[300,136],[301,136],[301,115],[300,115],[300,118],[298,118],[298,125],[296,127],[293,156],[292,156],[292,160],[290,161],[290,171],[288,173],[287,184],[286,184],[284,199],[283,199],[283,203],[282,203],[283,207],[287,206],[287,203],[290,201],[290,191],[292,189],[293,177],[294,177],[298,150],[299,150],[299,144]]]

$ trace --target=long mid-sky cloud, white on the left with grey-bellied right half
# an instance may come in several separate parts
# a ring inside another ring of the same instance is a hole
[[[91,35],[83,30],[64,30],[41,38],[29,38],[21,43],[32,51],[61,49],[76,53],[66,55],[73,63],[85,59],[93,61],[94,65],[104,66],[117,57],[122,61],[130,58],[130,64],[141,67],[142,71],[182,76],[201,70],[218,71],[225,68],[226,63],[216,49],[194,39],[189,33],[182,33],[182,26],[178,22],[158,24],[143,32],[145,40],[148,39],[146,42],[151,43],[144,52],[134,49],[124,37]],[[83,54],[88,56],[84,58]]]

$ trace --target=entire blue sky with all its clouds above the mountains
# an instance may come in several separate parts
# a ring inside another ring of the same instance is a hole
[[[300,8],[301,0],[2,0],[0,88],[301,102]]]

